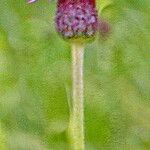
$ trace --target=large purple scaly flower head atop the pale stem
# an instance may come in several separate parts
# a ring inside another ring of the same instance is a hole
[[[64,39],[86,40],[98,28],[95,0],[58,0],[56,28]]]

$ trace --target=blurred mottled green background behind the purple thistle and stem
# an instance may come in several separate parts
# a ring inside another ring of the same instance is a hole
[[[85,51],[86,150],[150,149],[150,1],[97,0],[111,33]],[[71,51],[56,1],[0,0],[0,150],[67,150]]]

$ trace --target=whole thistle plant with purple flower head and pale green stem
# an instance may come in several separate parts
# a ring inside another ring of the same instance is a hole
[[[28,0],[28,3],[35,1],[37,0]],[[86,42],[94,39],[98,31],[98,22],[95,0],[58,0],[55,17],[56,30],[63,39],[70,41],[72,45],[72,109],[68,135],[73,150],[85,149],[84,46]]]

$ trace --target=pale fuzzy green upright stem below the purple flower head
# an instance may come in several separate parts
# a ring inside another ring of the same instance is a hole
[[[71,149],[73,150],[84,150],[83,59],[83,44],[72,44],[73,102],[70,115],[69,136]]]

